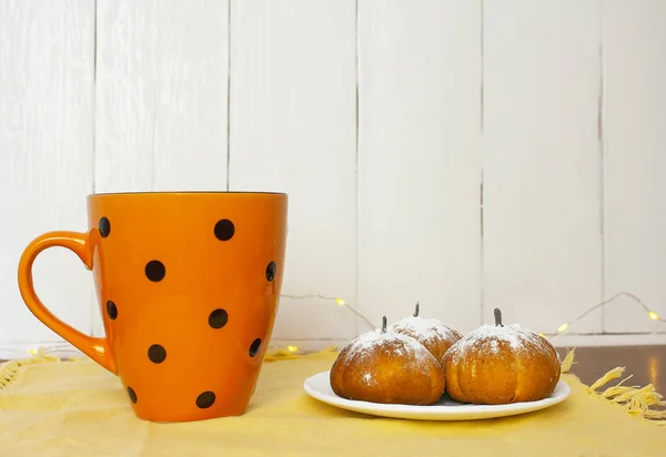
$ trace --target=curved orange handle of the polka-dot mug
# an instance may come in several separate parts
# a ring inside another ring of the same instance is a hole
[[[41,303],[32,284],[32,264],[37,256],[49,247],[65,247],[81,258],[81,262],[90,271],[92,270],[92,251],[89,247],[88,233],[80,232],[48,232],[34,238],[23,251],[19,262],[19,290],[23,302],[34,316],[47,327],[67,339],[88,357],[118,375],[115,360],[109,351],[107,338],[95,338],[77,331],[56,317]]]

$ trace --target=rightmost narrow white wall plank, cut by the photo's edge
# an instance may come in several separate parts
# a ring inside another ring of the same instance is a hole
[[[604,6],[606,294],[632,291],[666,315],[666,3]],[[605,331],[664,331],[607,307]]]

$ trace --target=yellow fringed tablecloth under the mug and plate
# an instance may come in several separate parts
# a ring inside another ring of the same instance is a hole
[[[572,396],[542,412],[478,422],[408,422],[363,416],[307,397],[303,380],[329,369],[334,357],[319,353],[265,363],[245,415],[189,424],[138,419],[119,380],[92,362],[14,363],[0,389],[0,457],[666,455],[666,427],[632,416],[573,375],[563,375]],[[654,393],[646,398],[659,399]]]

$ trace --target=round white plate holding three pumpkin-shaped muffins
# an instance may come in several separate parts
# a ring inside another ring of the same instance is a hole
[[[468,405],[454,402],[447,396],[430,406],[384,405],[380,403],[355,402],[339,397],[331,388],[331,372],[322,372],[305,379],[303,388],[311,397],[325,404],[373,416],[394,417],[417,420],[472,420],[494,417],[515,416],[544,409],[564,402],[572,393],[563,380],[557,383],[555,392],[537,402],[513,403],[509,405]]]

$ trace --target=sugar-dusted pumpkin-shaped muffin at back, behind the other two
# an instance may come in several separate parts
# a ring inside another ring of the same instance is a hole
[[[457,331],[447,327],[435,318],[421,317],[418,315],[420,304],[416,303],[414,314],[405,317],[391,326],[395,333],[411,336],[425,346],[427,351],[440,362],[446,351],[463,337]]]

